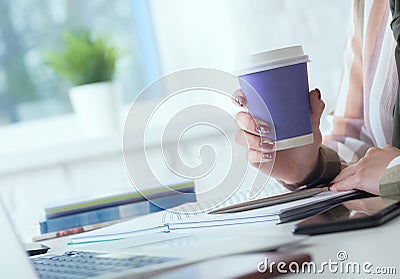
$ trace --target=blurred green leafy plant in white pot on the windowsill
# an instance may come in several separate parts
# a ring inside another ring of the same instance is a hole
[[[104,37],[89,30],[66,31],[63,49],[45,55],[46,63],[73,85],[111,81],[119,50]]]

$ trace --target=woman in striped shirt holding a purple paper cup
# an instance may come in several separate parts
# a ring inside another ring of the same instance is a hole
[[[335,191],[400,192],[396,183],[400,181],[400,149],[389,145],[398,87],[396,41],[390,28],[394,2],[389,6],[388,1],[354,1],[333,131],[322,138],[319,124],[325,104],[320,91],[312,90],[314,143],[275,154],[271,176],[285,187],[333,179],[330,188]],[[239,105],[246,103],[241,94],[235,100]],[[262,144],[268,142],[268,124],[255,123],[245,112],[238,113],[236,120],[246,135],[250,162],[263,169],[273,157],[273,143]]]

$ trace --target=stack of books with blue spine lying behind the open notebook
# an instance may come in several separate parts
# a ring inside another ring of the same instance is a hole
[[[104,227],[188,202],[195,202],[193,182],[152,188],[144,193],[130,192],[77,203],[48,207],[40,222],[41,235],[34,240],[75,234]],[[184,194],[182,194],[184,193]]]

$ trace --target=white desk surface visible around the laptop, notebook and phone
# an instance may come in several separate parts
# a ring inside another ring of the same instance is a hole
[[[260,225],[252,226],[252,229],[259,229],[268,232],[282,233],[287,235],[291,231],[293,223],[283,225]],[[306,239],[302,245],[291,248],[290,252],[295,254],[310,254],[313,262],[318,269],[323,262],[335,261],[340,262],[337,253],[344,251],[348,259],[346,262],[357,262],[361,266],[365,262],[372,264],[371,271],[375,267],[395,267],[397,275],[382,275],[378,277],[376,274],[354,274],[332,273],[325,266],[325,272],[322,274],[295,274],[286,275],[284,278],[398,278],[400,274],[400,218],[391,220],[389,223],[370,229],[354,230],[349,232],[326,234],[320,236],[312,236]],[[74,249],[74,246],[68,246],[67,237],[43,241],[44,244],[52,247],[52,252]],[[83,246],[79,246],[83,247]],[[269,254],[270,256],[273,254]],[[268,256],[268,254],[266,254]],[[257,269],[257,264],[263,254],[252,253],[244,257],[227,257],[224,260],[214,260],[214,263],[200,263],[182,267],[170,271],[162,271],[159,277],[155,278],[227,278],[231,274],[216,273],[215,265],[224,263],[228,266],[234,266],[235,274],[244,276],[249,274],[252,268]],[[254,262],[254,263],[253,263]],[[239,264],[240,263],[240,264]],[[232,271],[232,270],[231,270]],[[352,270],[351,270],[352,271]],[[254,274],[253,274],[254,275]],[[265,278],[265,276],[261,276]]]

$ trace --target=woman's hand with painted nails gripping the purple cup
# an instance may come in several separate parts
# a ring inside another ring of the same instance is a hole
[[[240,106],[246,105],[246,98],[241,91],[235,94],[234,100]],[[319,163],[319,148],[322,143],[319,124],[325,104],[318,89],[310,92],[310,104],[314,143],[277,151],[275,154],[271,176],[286,184],[303,182]],[[241,128],[236,141],[248,148],[248,160],[254,167],[269,172],[271,165],[268,163],[274,156],[274,142],[268,138],[268,124],[254,119],[246,112],[239,112],[236,121]]]

